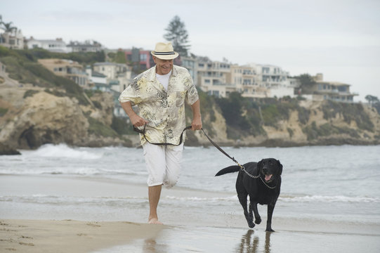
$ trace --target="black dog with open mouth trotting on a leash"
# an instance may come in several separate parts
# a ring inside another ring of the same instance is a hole
[[[277,198],[280,195],[282,164],[279,160],[268,158],[260,162],[248,162],[243,167],[247,172],[235,165],[221,169],[215,176],[239,171],[236,179],[236,192],[244,209],[244,216],[249,228],[255,226],[252,209],[255,215],[255,223],[260,224],[261,217],[257,211],[257,204],[268,205],[266,231],[274,232],[272,215]],[[249,195],[249,212],[247,210],[247,195]]]

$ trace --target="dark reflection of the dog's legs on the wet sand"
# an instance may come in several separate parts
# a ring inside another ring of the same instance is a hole
[[[254,230],[249,230],[245,235],[242,236],[242,240],[239,245],[237,245],[237,252],[240,253],[256,253],[258,251],[258,236],[254,236],[252,239],[252,235],[254,235]],[[266,232],[266,243],[265,243],[265,253],[270,253],[270,232]],[[260,251],[262,252],[262,251]]]

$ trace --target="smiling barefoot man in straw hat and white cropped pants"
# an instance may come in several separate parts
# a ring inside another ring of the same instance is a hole
[[[157,206],[162,185],[171,188],[178,181],[183,151],[183,143],[178,143],[185,128],[185,101],[192,108],[193,131],[202,129],[202,119],[197,89],[188,70],[173,65],[178,53],[173,51],[171,43],[159,42],[151,53],[155,67],[133,79],[120,95],[119,102],[133,126],[146,124],[145,136],[140,134],[140,143],[149,174],[148,223],[162,224],[157,216]],[[133,105],[137,105],[138,113],[132,109]]]

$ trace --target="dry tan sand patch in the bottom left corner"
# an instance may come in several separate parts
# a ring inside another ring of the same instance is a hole
[[[1,220],[0,252],[93,252],[156,238],[162,228],[123,221]]]

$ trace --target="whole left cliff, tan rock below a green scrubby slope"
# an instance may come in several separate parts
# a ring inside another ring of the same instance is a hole
[[[86,94],[32,56],[0,49],[0,61],[6,65],[6,72],[0,71],[0,143],[18,149],[45,143],[132,145],[129,138],[112,129],[112,95]]]

